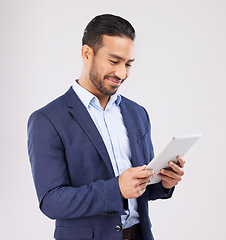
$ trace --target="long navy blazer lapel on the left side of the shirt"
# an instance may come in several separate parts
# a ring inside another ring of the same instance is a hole
[[[74,118],[81,126],[81,128],[84,130],[84,132],[87,134],[90,141],[93,143],[96,150],[99,152],[100,156],[107,165],[109,171],[114,175],[114,170],[107,149],[105,147],[104,141],[98,129],[96,128],[95,123],[90,117],[87,109],[85,108],[77,94],[74,92],[72,87],[65,93],[64,96],[68,104],[68,107],[70,108],[69,111],[74,116]]]

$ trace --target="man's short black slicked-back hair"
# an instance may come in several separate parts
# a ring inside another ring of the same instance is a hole
[[[90,46],[94,54],[103,46],[103,35],[128,37],[134,41],[135,30],[124,18],[112,14],[98,15],[86,26],[82,45]]]

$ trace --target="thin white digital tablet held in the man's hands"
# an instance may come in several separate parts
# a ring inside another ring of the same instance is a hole
[[[147,169],[153,169],[156,174],[149,184],[160,182],[161,179],[157,176],[160,170],[162,168],[169,168],[168,162],[170,160],[177,163],[177,156],[180,155],[183,157],[200,137],[201,134],[172,137],[165,148],[147,165]]]

